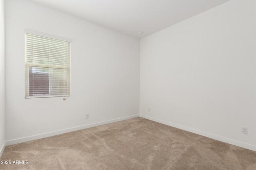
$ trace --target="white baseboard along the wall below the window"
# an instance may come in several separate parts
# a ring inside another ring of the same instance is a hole
[[[63,130],[60,130],[60,131],[54,131],[54,132],[49,132],[49,133],[43,133],[43,134],[40,134],[40,135],[34,135],[34,136],[24,137],[24,138],[20,138],[20,139],[14,139],[14,140],[6,141],[5,144],[6,144],[6,146],[14,145],[14,144],[17,144],[17,143],[33,141],[33,140],[36,140],[36,139],[42,139],[42,138],[45,138],[45,137],[51,137],[51,136],[54,136],[54,135],[60,135],[60,134],[68,133],[68,132],[72,132],[72,131],[78,131],[78,130],[86,129],[86,128],[89,128],[89,127],[105,125],[105,124],[113,123],[113,122],[116,122],[116,121],[132,119],[132,118],[135,118],[135,117],[139,117],[139,115],[132,115],[132,116],[128,116],[128,117],[122,117],[122,118],[118,118],[118,119],[112,119],[112,120],[108,120],[108,121],[92,123],[92,124],[89,124],[89,125],[72,127],[72,128],[63,129]]]

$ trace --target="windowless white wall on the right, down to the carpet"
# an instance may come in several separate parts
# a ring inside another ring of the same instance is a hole
[[[141,39],[140,116],[256,150],[255,9],[231,0]]]

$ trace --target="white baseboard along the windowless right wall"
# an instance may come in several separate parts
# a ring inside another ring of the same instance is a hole
[[[243,143],[243,142],[240,142],[240,141],[236,141],[236,140],[233,140],[233,139],[229,139],[229,138],[226,138],[226,137],[221,137],[221,136],[218,136],[218,135],[214,135],[214,134],[211,134],[211,133],[206,133],[204,131],[199,131],[197,129],[192,129],[190,127],[186,127],[186,126],[182,126],[182,125],[178,125],[178,124],[175,124],[175,123],[171,123],[171,122],[167,122],[167,121],[164,121],[164,120],[160,120],[160,119],[155,119],[153,117],[149,117],[149,116],[146,116],[146,115],[140,115],[140,117],[143,117],[145,119],[149,119],[149,120],[152,120],[152,121],[156,121],[158,123],[162,123],[164,125],[168,125],[168,126],[172,126],[172,127],[176,127],[178,129],[182,129],[184,131],[189,131],[189,132],[192,132],[192,133],[196,133],[198,135],[202,135],[202,136],[205,136],[205,137],[209,137],[209,138],[212,138],[212,139],[215,139],[215,140],[218,140],[218,141],[222,141],[222,142],[225,142],[225,143],[229,143],[231,145],[236,145],[238,147],[242,147],[242,148],[246,148],[246,149],[250,149],[250,150],[254,150],[256,151],[256,145],[250,145],[248,143]]]

